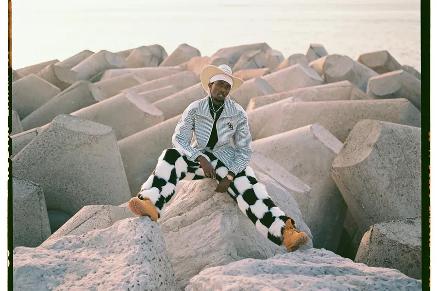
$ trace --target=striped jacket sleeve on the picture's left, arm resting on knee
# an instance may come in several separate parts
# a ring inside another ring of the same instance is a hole
[[[190,146],[191,138],[194,129],[194,110],[193,104],[188,106],[182,113],[182,117],[179,120],[174,134],[171,137],[171,143],[173,146],[181,151],[189,161],[194,162],[199,157],[201,152],[194,147]]]

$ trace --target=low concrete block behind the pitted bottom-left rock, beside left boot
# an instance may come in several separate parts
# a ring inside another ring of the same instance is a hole
[[[74,214],[67,223],[54,232],[47,241],[66,235],[81,235],[95,229],[103,229],[114,225],[119,220],[135,217],[126,207],[114,205],[84,206]]]

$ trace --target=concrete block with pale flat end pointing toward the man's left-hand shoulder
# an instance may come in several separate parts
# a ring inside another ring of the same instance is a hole
[[[164,121],[164,114],[135,92],[123,92],[71,113],[114,129],[117,140]]]

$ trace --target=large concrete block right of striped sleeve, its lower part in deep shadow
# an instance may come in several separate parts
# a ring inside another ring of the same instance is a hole
[[[319,124],[252,142],[288,172],[311,187],[307,196],[295,197],[314,236],[314,247],[336,251],[347,206],[331,176],[331,165],[342,144]]]

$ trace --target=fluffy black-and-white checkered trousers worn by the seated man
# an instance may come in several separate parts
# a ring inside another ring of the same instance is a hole
[[[212,154],[209,148],[202,150],[202,153],[214,167],[216,179],[221,181],[228,173],[228,168]],[[169,148],[159,157],[155,174],[141,186],[138,198],[149,198],[160,217],[164,214],[165,204],[173,196],[180,180],[203,178],[205,176],[199,162],[191,162],[178,149]],[[283,244],[285,223],[290,218],[271,201],[265,186],[257,181],[251,167],[247,166],[245,170],[235,175],[228,194],[262,235],[278,245]],[[293,219],[291,221],[294,226]]]

